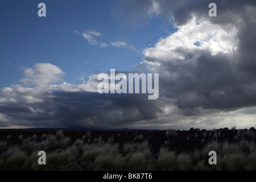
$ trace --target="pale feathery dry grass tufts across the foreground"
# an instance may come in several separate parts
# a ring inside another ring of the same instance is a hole
[[[114,143],[113,138],[92,138],[86,133],[81,139],[72,141],[65,137],[63,130],[56,134],[32,135],[22,143],[12,145],[0,141],[1,170],[256,170],[256,144],[254,133],[235,130],[240,140],[236,143],[218,142],[214,139],[206,143],[201,150],[176,154],[170,146],[161,147],[154,156],[148,141],[137,135],[136,142]],[[220,132],[212,131],[218,138]],[[175,136],[172,130],[166,136]],[[207,134],[203,134],[204,137]],[[209,132],[210,136],[210,132]],[[195,135],[196,137],[196,135]],[[247,137],[247,140],[245,139]],[[189,140],[189,135],[187,140]],[[47,153],[47,165],[38,164],[38,151]],[[208,164],[209,151],[216,151],[217,165]]]

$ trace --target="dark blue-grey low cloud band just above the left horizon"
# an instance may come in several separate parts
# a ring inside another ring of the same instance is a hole
[[[88,92],[52,93],[43,103],[27,104],[22,107],[2,106],[0,112],[10,118],[12,125],[26,126],[90,126],[113,127],[122,123],[157,118],[159,105],[145,96],[127,94],[98,94]],[[31,111],[28,107],[34,108]],[[36,110],[37,109],[37,110]],[[51,122],[52,121],[52,122]]]

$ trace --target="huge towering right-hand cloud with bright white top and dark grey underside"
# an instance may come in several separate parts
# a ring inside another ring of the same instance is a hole
[[[199,107],[230,110],[256,104],[252,72],[255,56],[254,51],[248,51],[254,43],[247,38],[254,36],[255,7],[238,4],[240,7],[225,9],[227,12],[218,14],[214,20],[209,16],[197,17],[204,12],[200,6],[198,11],[188,8],[184,11],[189,14],[185,23],[177,21],[181,24],[176,26],[177,32],[144,50],[145,61],[139,67],[150,65],[155,72],[162,73],[162,94],[175,98],[176,106],[184,114],[196,114],[191,111]],[[240,10],[240,15],[236,10]],[[230,12],[236,21],[226,17]],[[230,22],[223,24],[224,19]]]

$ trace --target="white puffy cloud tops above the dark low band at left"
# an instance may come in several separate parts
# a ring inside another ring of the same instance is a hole
[[[59,67],[49,63],[35,64],[32,68],[24,69],[24,78],[20,80],[24,84],[35,86],[27,88],[22,85],[11,85],[11,87],[0,89],[1,104],[36,104],[43,103],[46,98],[53,98],[54,91],[63,92],[97,92],[97,75],[89,77],[88,81],[82,84],[69,84],[60,81],[64,74]],[[53,85],[52,85],[53,84]]]

